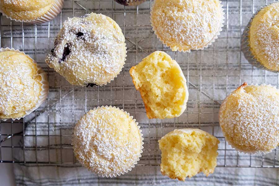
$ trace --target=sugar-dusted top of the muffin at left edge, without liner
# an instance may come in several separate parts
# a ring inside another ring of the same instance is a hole
[[[34,108],[40,99],[42,77],[27,55],[0,52],[0,118],[16,118]]]

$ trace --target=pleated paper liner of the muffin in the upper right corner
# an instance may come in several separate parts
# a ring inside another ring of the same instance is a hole
[[[270,2],[270,3],[267,3],[267,4],[264,4],[263,6],[261,6],[253,15],[252,17],[250,18],[248,24],[247,24],[247,27],[246,29],[244,30],[244,33],[243,33],[243,39],[242,39],[242,46],[241,46],[241,50],[245,56],[245,58],[252,64],[254,65],[255,67],[259,68],[259,69],[263,69],[263,70],[267,70],[267,71],[270,71],[270,72],[273,72],[273,73],[279,73],[279,71],[276,71],[276,70],[272,70],[272,69],[268,69],[266,68],[263,64],[261,64],[255,57],[255,55],[253,55],[252,51],[250,50],[250,44],[249,44],[249,32],[250,32],[250,27],[251,27],[251,23],[252,23],[252,20],[254,19],[255,15],[257,15],[259,13],[259,11],[261,11],[264,7],[267,7],[268,5],[271,5],[273,3],[276,3],[278,1],[273,1],[273,2]]]

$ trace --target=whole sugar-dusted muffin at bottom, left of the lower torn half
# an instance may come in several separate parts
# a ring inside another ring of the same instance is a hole
[[[141,157],[141,130],[129,113],[112,106],[86,113],[73,131],[78,161],[99,176],[113,177],[134,167]]]

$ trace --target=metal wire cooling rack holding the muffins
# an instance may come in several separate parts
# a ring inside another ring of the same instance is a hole
[[[221,35],[212,46],[191,53],[172,52],[156,38],[149,22],[152,3],[124,7],[111,0],[65,0],[62,12],[42,25],[19,23],[1,15],[0,46],[14,47],[33,57],[47,72],[50,90],[44,104],[29,116],[1,121],[0,162],[78,164],[71,147],[74,124],[94,107],[113,105],[133,115],[143,130],[144,152],[137,166],[160,165],[157,140],[175,128],[188,127],[205,130],[220,140],[219,167],[279,167],[278,147],[266,155],[238,153],[226,144],[218,123],[220,103],[241,83],[278,88],[278,74],[253,67],[241,51],[241,37],[250,17],[268,1],[222,1],[226,19]],[[49,69],[44,58],[67,17],[91,12],[107,15],[120,25],[127,60],[118,77],[106,86],[76,87]],[[189,101],[178,118],[149,120],[129,75],[131,66],[156,50],[170,54],[187,79]]]

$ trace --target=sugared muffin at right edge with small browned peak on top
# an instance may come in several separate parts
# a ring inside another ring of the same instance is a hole
[[[279,91],[270,85],[239,86],[219,110],[223,135],[244,153],[268,153],[279,143]]]

